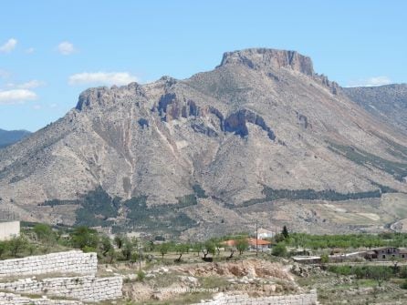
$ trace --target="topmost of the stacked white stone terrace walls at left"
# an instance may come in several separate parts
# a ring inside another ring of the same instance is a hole
[[[98,258],[96,253],[83,253],[79,250],[73,250],[24,259],[0,260],[0,278],[47,273],[95,275],[97,268]]]

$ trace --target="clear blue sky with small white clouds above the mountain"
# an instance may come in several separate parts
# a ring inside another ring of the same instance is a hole
[[[2,1],[0,128],[35,131],[89,86],[186,78],[292,49],[341,86],[407,82],[407,1]]]

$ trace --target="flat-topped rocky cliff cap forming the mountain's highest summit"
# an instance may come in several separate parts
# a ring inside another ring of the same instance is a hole
[[[256,70],[265,71],[286,67],[308,76],[314,75],[311,58],[303,56],[297,53],[297,51],[249,48],[240,51],[226,52],[218,67],[227,65],[244,65]]]

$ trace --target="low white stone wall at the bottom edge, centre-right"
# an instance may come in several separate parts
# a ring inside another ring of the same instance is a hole
[[[241,295],[225,295],[218,294],[213,300],[201,301],[201,303],[193,305],[316,305],[318,304],[317,291],[311,290],[309,293],[285,295],[285,296],[271,296],[261,298],[250,298],[246,294]]]

